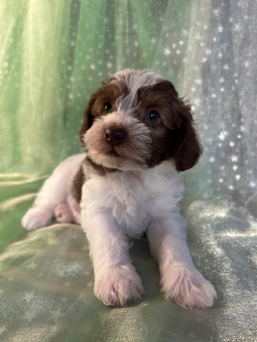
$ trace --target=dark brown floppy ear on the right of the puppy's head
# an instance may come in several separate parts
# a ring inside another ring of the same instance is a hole
[[[176,169],[185,171],[197,163],[202,153],[202,147],[195,130],[191,107],[180,100],[176,112],[178,114],[178,128],[176,129],[176,142],[172,157],[176,163]]]

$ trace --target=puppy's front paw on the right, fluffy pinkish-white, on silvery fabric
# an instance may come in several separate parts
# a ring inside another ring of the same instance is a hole
[[[211,308],[217,298],[214,286],[200,272],[186,266],[170,266],[160,285],[164,299],[192,310]]]

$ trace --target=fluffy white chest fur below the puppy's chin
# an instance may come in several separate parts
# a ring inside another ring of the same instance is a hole
[[[142,171],[91,175],[82,188],[82,211],[111,213],[126,234],[139,236],[153,218],[179,211],[184,186],[172,162]]]

